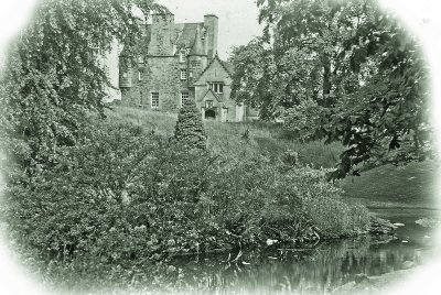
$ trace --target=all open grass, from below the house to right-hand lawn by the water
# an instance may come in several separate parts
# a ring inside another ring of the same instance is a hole
[[[108,112],[115,120],[131,121],[155,132],[172,136],[176,114],[117,107]],[[342,146],[337,143],[300,143],[292,140],[280,125],[263,122],[218,123],[205,121],[208,145],[212,150],[239,155],[246,146],[273,159],[287,150],[295,151],[301,163],[314,167],[333,167]],[[243,140],[249,131],[249,141]],[[370,207],[435,207],[437,186],[433,176],[439,172],[434,161],[410,163],[402,167],[383,166],[366,171],[361,177],[347,177],[340,183],[345,196]],[[440,205],[438,207],[441,207]]]

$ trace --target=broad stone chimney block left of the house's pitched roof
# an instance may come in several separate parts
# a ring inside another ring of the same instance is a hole
[[[149,55],[172,56],[174,54],[174,14],[153,14]]]

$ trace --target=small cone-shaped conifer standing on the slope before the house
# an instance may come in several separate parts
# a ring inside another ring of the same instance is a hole
[[[174,140],[187,149],[206,149],[206,133],[201,112],[192,99],[189,99],[179,112]]]

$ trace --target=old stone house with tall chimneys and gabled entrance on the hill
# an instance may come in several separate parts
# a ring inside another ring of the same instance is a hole
[[[201,23],[174,23],[172,13],[153,14],[152,23],[141,28],[142,39],[119,56],[122,105],[178,112],[194,99],[204,119],[250,118],[251,110],[230,98],[233,68],[217,55],[216,15],[207,14]]]

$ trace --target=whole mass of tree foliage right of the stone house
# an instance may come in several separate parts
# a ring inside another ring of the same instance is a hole
[[[263,34],[235,48],[233,96],[301,140],[340,141],[333,178],[430,154],[427,66],[374,0],[261,0]]]

